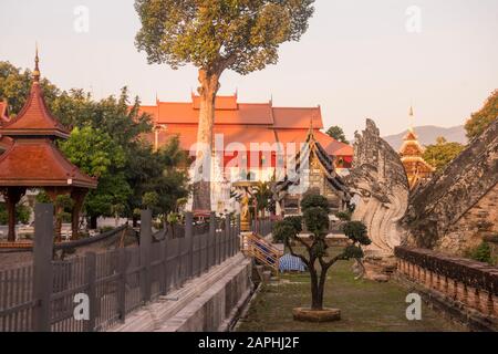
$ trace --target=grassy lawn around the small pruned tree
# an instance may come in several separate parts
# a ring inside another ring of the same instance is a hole
[[[246,319],[237,331],[465,331],[428,309],[425,304],[421,321],[405,316],[409,291],[395,281],[377,283],[354,280],[352,261],[335,263],[329,271],[325,306],[341,309],[342,319],[331,323],[293,321],[292,309],[310,305],[308,273],[280,275],[279,280],[261,285]]]

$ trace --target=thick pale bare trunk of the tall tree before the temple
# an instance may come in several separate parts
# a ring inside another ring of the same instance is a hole
[[[199,125],[194,174],[194,210],[211,210],[211,157],[215,124],[215,100],[219,74],[199,69]]]

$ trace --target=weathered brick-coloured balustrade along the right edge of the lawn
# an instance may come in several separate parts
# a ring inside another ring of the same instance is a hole
[[[426,249],[397,247],[398,275],[435,293],[455,309],[498,323],[498,268]]]

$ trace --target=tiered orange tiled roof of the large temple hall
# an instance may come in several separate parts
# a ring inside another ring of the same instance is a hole
[[[160,132],[159,145],[170,136],[178,135],[180,146],[188,150],[197,140],[199,97],[190,102],[160,102],[142,106],[141,112],[151,114],[155,125],[166,125]],[[318,107],[274,107],[268,103],[239,103],[237,94],[216,98],[215,134],[224,134],[225,145],[241,143],[304,143],[310,128],[329,155],[353,156],[353,148],[320,132],[322,114]],[[149,135],[153,140],[153,134]]]

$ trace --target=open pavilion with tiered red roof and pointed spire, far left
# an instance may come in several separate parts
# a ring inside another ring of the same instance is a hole
[[[0,135],[7,142],[0,155],[0,192],[9,214],[8,240],[15,241],[15,205],[29,189],[44,189],[52,201],[69,195],[74,201],[72,235],[76,237],[84,197],[97,181],[80,171],[56,147],[55,140],[69,138],[70,132],[51,115],[43,98],[38,51],[30,94],[15,117],[2,119]]]

